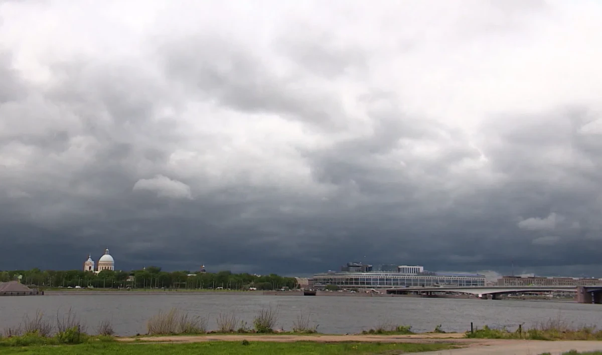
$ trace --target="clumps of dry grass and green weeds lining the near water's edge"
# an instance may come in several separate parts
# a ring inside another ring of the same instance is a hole
[[[282,328],[278,322],[278,309],[264,308],[256,313],[251,323],[241,320],[235,313],[220,313],[216,318],[216,329],[209,330],[207,316],[191,315],[184,310],[171,309],[160,311],[148,319],[144,336],[178,336],[178,335],[307,335],[317,333],[318,324],[311,315],[300,312],[295,321]],[[88,323],[88,325],[90,325]],[[278,328],[277,328],[278,325]],[[110,341],[115,335],[110,321],[102,320],[87,332],[84,324],[69,310],[65,314],[56,313],[56,317],[47,317],[38,311],[33,317],[25,315],[17,327],[5,328],[0,332],[0,347],[27,345],[60,345],[85,344],[88,342]],[[445,333],[438,325],[427,334]],[[374,329],[364,330],[363,335],[419,335],[414,333],[411,326],[395,323],[380,323]],[[140,336],[138,334],[137,336]],[[436,338],[459,338],[462,333],[437,334]],[[602,341],[602,330],[595,326],[574,327],[562,319],[549,319],[531,329],[518,327],[514,330],[506,328],[493,329],[485,326],[466,332],[465,338],[480,339],[525,339],[525,340],[599,340]],[[430,336],[432,338],[432,336]],[[361,339],[355,339],[361,341]]]

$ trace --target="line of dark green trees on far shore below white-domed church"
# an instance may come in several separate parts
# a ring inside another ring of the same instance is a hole
[[[273,290],[296,288],[294,277],[276,274],[258,276],[248,273],[233,274],[230,271],[201,273],[190,271],[161,271],[160,267],[147,267],[143,270],[111,271],[42,271],[32,270],[0,271],[0,282],[17,280],[24,285],[37,288],[164,288],[164,289],[249,289]]]

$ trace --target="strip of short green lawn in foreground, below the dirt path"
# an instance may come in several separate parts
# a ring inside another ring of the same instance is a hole
[[[2,355],[280,355],[280,354],[403,354],[419,351],[437,351],[455,348],[452,344],[403,344],[403,343],[317,343],[317,342],[253,342],[248,345],[242,342],[204,342],[194,344],[123,344],[117,342],[59,345],[55,347],[5,347],[1,348]]]

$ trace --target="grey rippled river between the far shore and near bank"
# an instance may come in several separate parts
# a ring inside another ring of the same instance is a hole
[[[72,309],[95,333],[102,320],[111,321],[121,336],[146,333],[146,321],[171,307],[208,318],[216,329],[220,313],[231,313],[252,324],[253,316],[265,307],[278,310],[278,326],[290,330],[300,313],[319,324],[320,333],[358,333],[380,324],[412,326],[415,332],[429,332],[438,324],[445,332],[465,332],[474,326],[530,327],[550,318],[574,326],[602,326],[602,304],[552,301],[505,301],[411,297],[304,297],[268,295],[199,294],[87,294],[0,297],[0,331],[16,326],[25,314],[41,310],[56,319],[57,311]]]

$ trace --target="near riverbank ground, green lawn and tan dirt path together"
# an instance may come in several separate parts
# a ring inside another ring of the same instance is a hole
[[[568,351],[600,351],[600,341],[527,341],[514,339],[467,339],[463,334],[429,335],[207,335],[92,339],[85,344],[1,347],[3,355],[127,353],[206,355],[241,354],[392,354],[423,355],[536,355]],[[449,336],[450,338],[444,338]],[[1,344],[0,344],[1,345]]]

